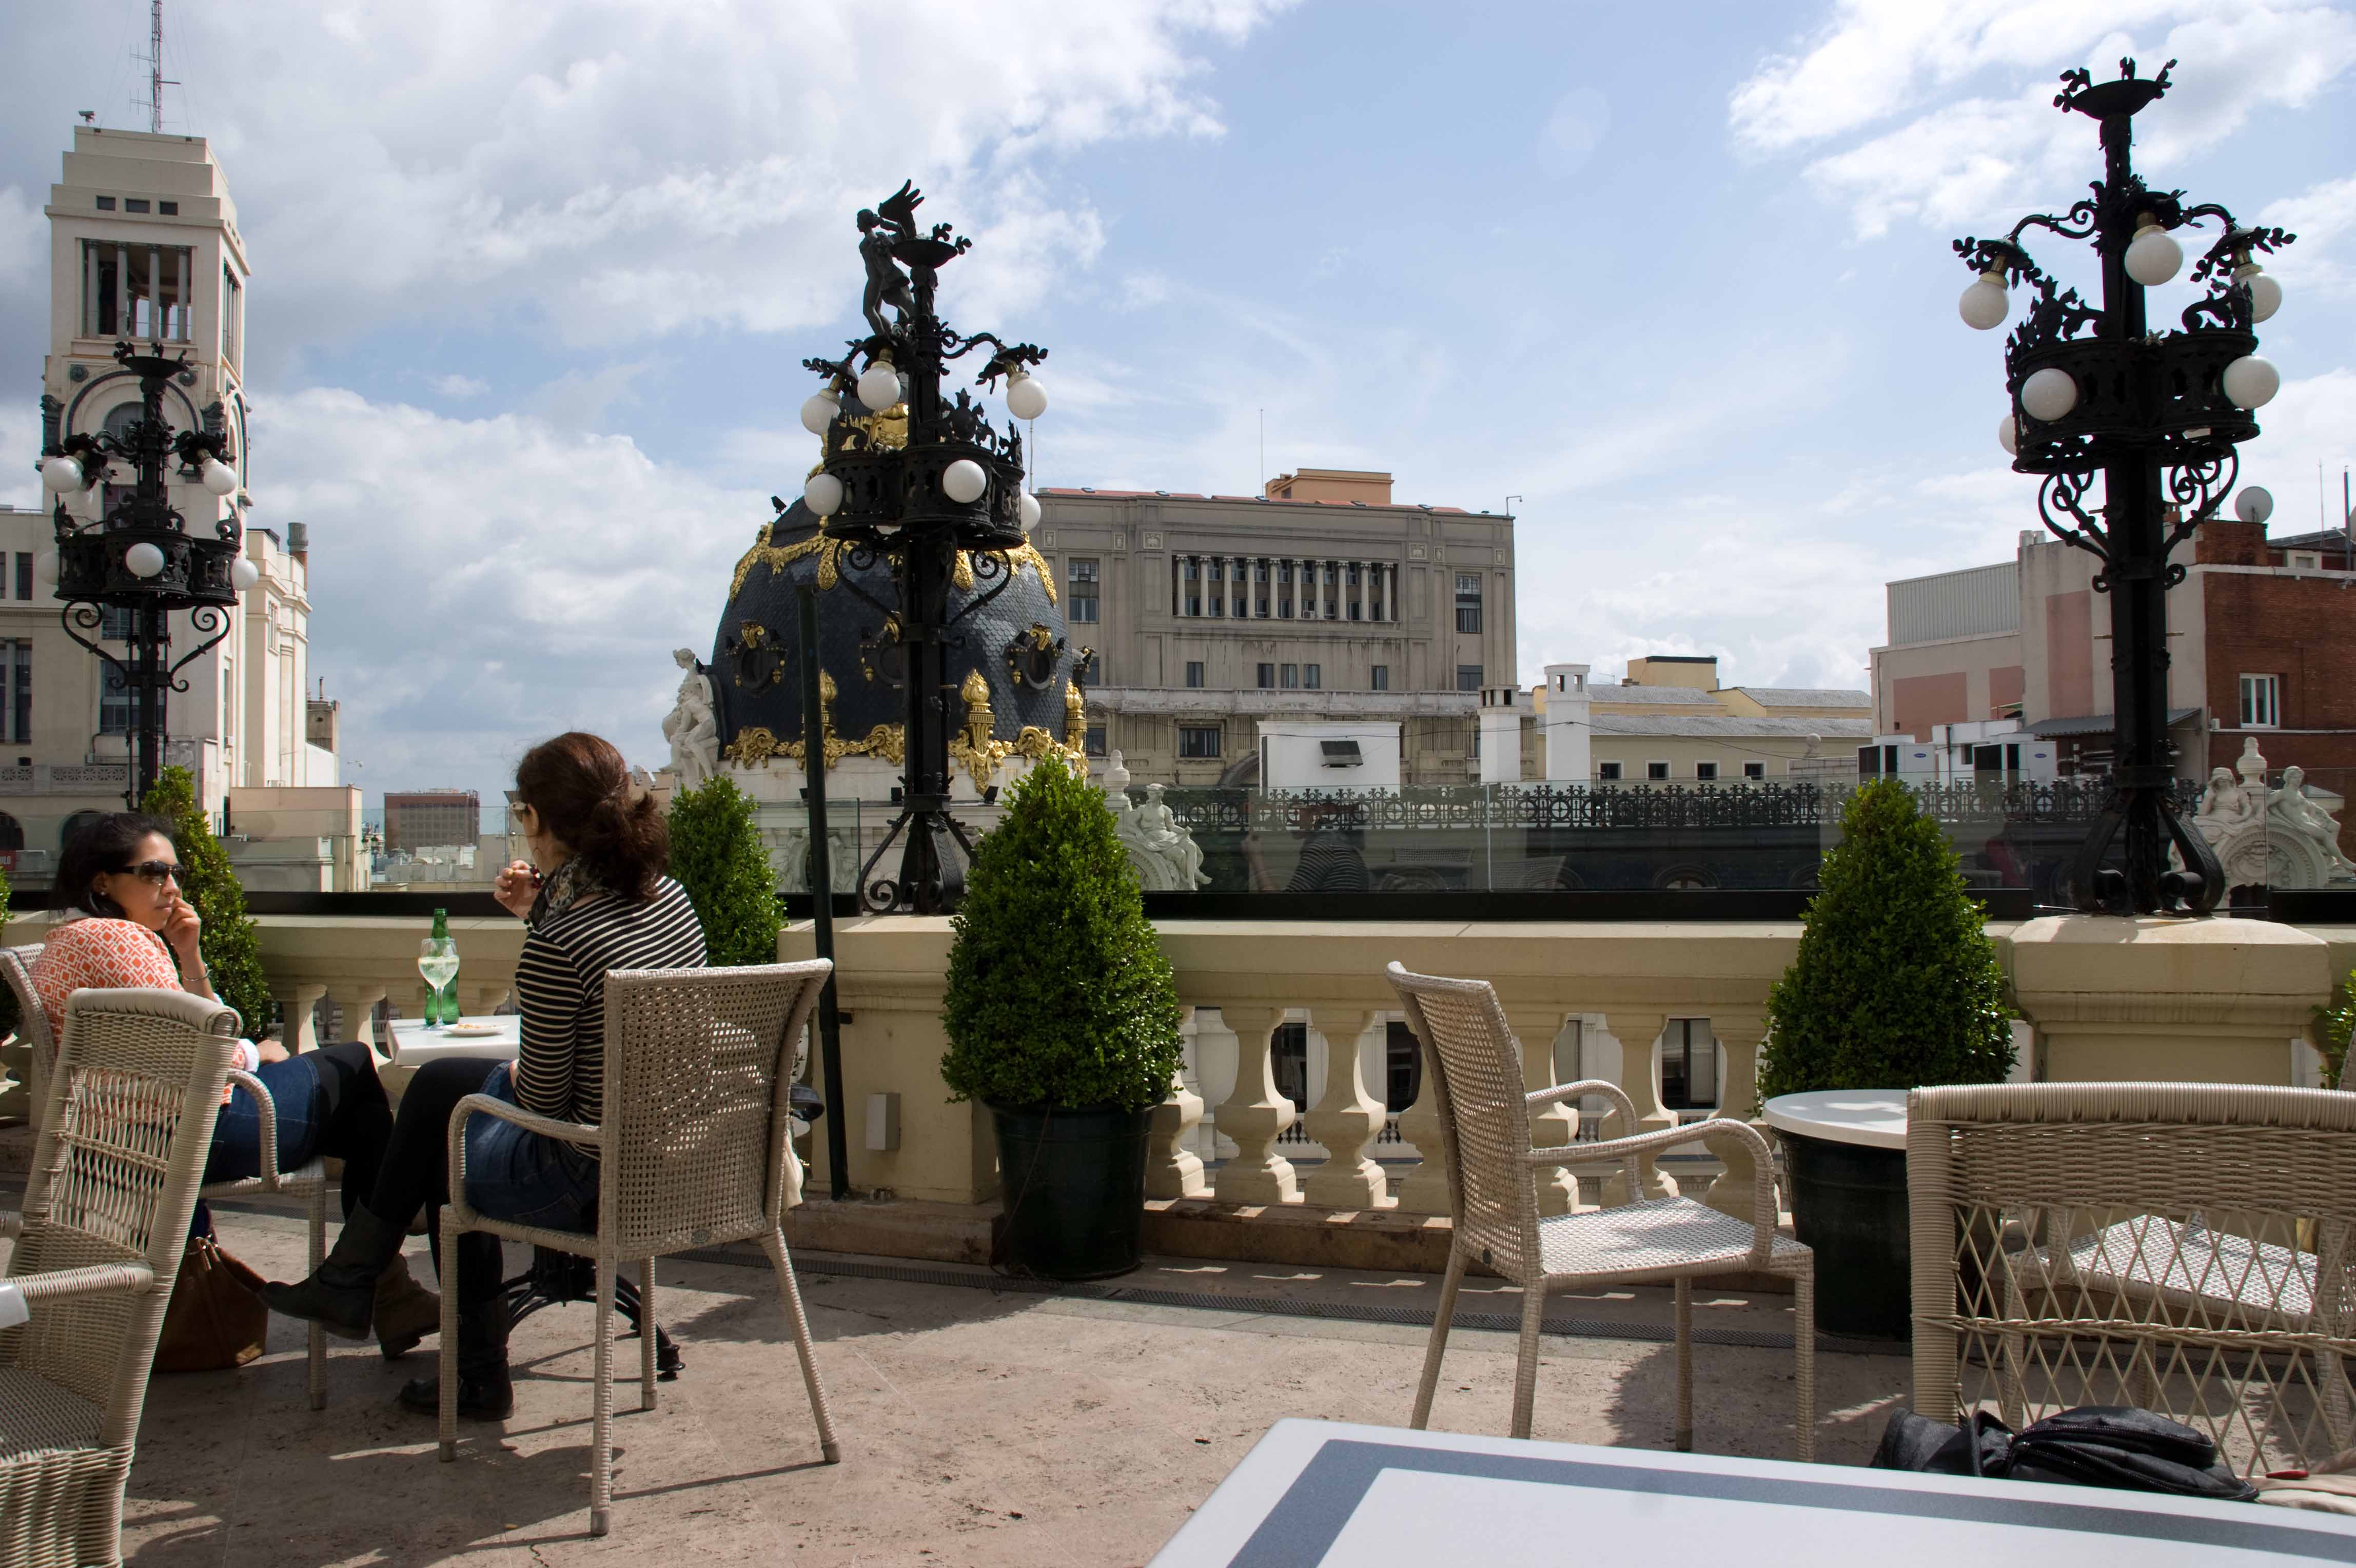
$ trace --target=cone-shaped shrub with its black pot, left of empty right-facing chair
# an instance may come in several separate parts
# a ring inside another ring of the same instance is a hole
[[[1039,758],[975,848],[952,928],[940,1076],[997,1123],[1006,1262],[1041,1278],[1136,1269],[1180,1010],[1103,791]]]

